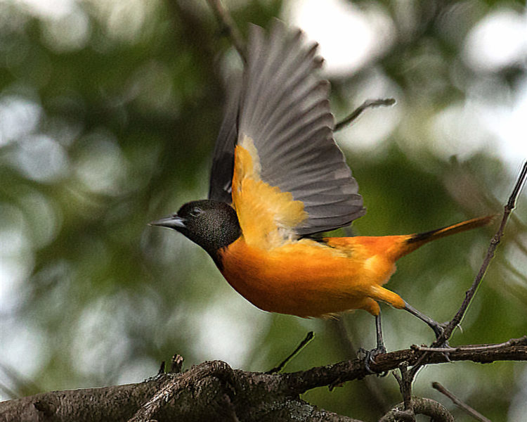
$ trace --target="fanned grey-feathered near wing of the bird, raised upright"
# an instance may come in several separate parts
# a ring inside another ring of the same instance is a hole
[[[322,60],[315,50],[316,46],[305,46],[300,31],[291,33],[278,20],[268,37],[260,27],[251,27],[235,160],[240,160],[243,148],[249,152],[253,168],[249,171],[247,165],[240,166],[239,192],[236,197],[233,192],[233,202],[240,217],[244,198],[259,200],[248,186],[242,188],[242,179],[247,178],[270,186],[275,193],[288,193],[287,198],[303,210],[300,214],[295,211],[294,218],[283,214],[287,207],[272,211],[285,238],[291,233],[307,236],[337,229],[365,213],[358,185],[332,138],[329,83],[316,76]],[[224,124],[229,119],[236,122],[236,117],[226,117]],[[219,141],[230,145],[225,139]],[[214,162],[226,158],[227,149],[223,148]],[[270,199],[264,195],[258,209],[272,207]],[[259,216],[243,219],[250,218]]]

